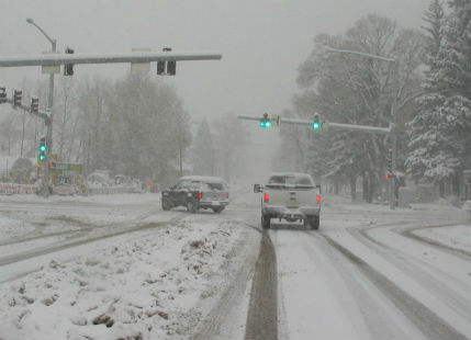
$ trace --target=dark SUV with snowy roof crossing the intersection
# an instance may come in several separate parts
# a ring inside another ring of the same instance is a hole
[[[226,182],[218,177],[186,175],[161,192],[161,208],[184,206],[190,213],[212,209],[221,213],[229,203]]]

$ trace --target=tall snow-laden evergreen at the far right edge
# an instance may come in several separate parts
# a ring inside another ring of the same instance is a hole
[[[411,122],[410,155],[412,177],[422,183],[445,185],[458,193],[461,171],[470,166],[471,135],[471,2],[434,0],[425,14],[429,24],[428,70],[419,110]]]

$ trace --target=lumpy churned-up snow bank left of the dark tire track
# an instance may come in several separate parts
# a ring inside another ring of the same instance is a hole
[[[0,285],[0,339],[181,339],[227,271],[236,223],[180,223]]]

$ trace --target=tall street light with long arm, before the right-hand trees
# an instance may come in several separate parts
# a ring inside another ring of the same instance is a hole
[[[350,54],[350,55],[357,55],[362,57],[368,57],[372,59],[383,60],[388,63],[392,63],[394,66],[394,93],[393,93],[393,103],[391,105],[391,116],[393,120],[392,123],[392,129],[391,129],[391,139],[392,139],[392,165],[391,170],[392,173],[395,173],[396,168],[396,157],[397,157],[397,135],[396,135],[396,125],[397,125],[397,97],[399,97],[399,60],[395,58],[386,58],[382,56],[371,55],[368,53],[362,53],[358,50],[350,50],[350,49],[338,49],[330,46],[323,46],[326,52],[330,53],[343,53],[343,54]],[[390,184],[390,208],[395,208],[395,181],[391,181]]]

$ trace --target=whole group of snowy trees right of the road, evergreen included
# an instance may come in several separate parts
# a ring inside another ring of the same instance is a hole
[[[384,16],[368,15],[344,34],[319,34],[299,67],[300,92],[288,116],[348,124],[389,126],[394,65],[384,60],[326,52],[326,46],[399,60],[397,168],[416,183],[451,188],[458,193],[463,169],[471,168],[471,2],[434,0],[423,30],[411,30]],[[278,168],[312,172],[336,186],[349,184],[352,196],[361,178],[371,201],[384,185],[383,135],[329,131],[315,133],[284,126]],[[447,184],[447,185],[445,185]],[[455,185],[451,185],[455,184]]]

